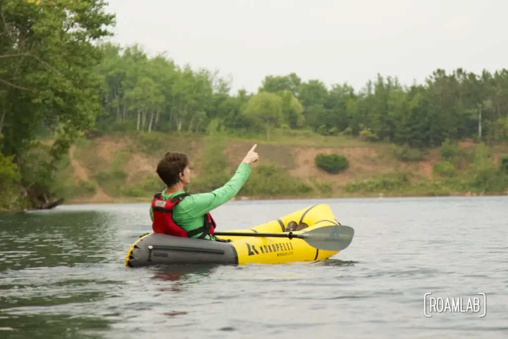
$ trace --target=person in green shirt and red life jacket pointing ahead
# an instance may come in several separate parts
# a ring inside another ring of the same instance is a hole
[[[154,196],[150,218],[154,233],[217,241],[210,211],[238,194],[250,175],[250,164],[258,161],[256,147],[247,152],[233,177],[210,193],[189,195],[183,188],[190,182],[189,161],[183,153],[167,152],[157,165],[166,189]]]

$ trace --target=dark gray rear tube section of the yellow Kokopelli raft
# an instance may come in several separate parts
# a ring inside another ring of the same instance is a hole
[[[150,234],[136,243],[129,267],[172,264],[238,264],[233,245],[202,239]]]

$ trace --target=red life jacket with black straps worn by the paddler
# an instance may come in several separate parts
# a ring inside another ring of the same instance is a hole
[[[204,215],[204,225],[193,231],[185,231],[183,228],[178,226],[173,220],[173,208],[182,201],[183,198],[189,196],[188,193],[182,193],[172,197],[169,200],[162,200],[162,194],[157,193],[153,196],[152,200],[152,211],[153,211],[153,222],[152,229],[154,233],[164,233],[168,235],[174,235],[179,237],[193,237],[199,233],[202,233],[199,239],[203,239],[208,234],[213,234],[215,231],[215,221],[212,218],[210,212]]]

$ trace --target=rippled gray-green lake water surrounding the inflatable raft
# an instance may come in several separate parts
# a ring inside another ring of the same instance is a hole
[[[508,197],[234,201],[214,217],[248,228],[317,203],[355,228],[349,248],[242,267],[124,268],[118,234],[149,228],[147,204],[0,214],[0,338],[508,338]],[[486,305],[426,317],[425,293]]]

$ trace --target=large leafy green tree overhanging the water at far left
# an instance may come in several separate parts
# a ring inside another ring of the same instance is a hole
[[[93,42],[111,35],[114,15],[105,6],[72,0],[0,3],[0,151],[18,164],[21,191],[36,205],[39,196],[43,204],[51,200],[51,185],[40,183],[54,180],[70,144],[102,110],[101,91],[107,87],[94,68],[103,51]],[[54,142],[41,158],[41,175],[28,180],[27,158],[42,132]]]

